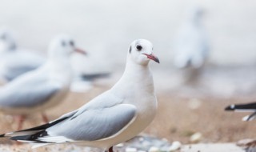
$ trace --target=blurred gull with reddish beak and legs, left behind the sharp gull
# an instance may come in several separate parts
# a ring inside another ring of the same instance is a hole
[[[0,89],[0,111],[18,115],[18,130],[27,115],[42,113],[44,122],[48,122],[44,110],[58,105],[69,92],[72,69],[69,62],[74,51],[85,54],[74,46],[67,35],[59,35],[50,43],[48,60],[38,69],[22,74]]]

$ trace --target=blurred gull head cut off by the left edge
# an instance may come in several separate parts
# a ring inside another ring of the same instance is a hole
[[[0,30],[0,51],[10,51],[16,49],[16,43],[10,30],[2,28]]]

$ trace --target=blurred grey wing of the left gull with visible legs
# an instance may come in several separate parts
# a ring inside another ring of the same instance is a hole
[[[0,90],[0,107],[18,108],[41,105],[61,87],[51,83],[46,75],[22,78],[10,82]]]

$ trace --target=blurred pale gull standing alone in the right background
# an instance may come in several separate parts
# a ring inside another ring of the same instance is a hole
[[[174,66],[198,69],[206,61],[209,46],[201,23],[202,9],[193,7],[189,13],[186,22],[178,30],[178,36],[174,40],[174,51],[176,52]]]

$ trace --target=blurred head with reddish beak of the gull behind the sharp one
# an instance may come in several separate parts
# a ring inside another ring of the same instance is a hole
[[[73,38],[62,34],[55,37],[50,43],[49,56],[54,58],[68,58],[70,54],[78,52],[86,54],[86,51],[75,46]]]

